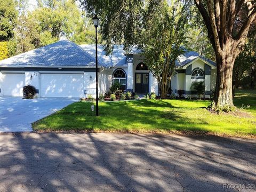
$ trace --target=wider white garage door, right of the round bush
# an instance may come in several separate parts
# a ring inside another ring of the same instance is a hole
[[[83,74],[41,74],[41,97],[74,97],[84,95]]]

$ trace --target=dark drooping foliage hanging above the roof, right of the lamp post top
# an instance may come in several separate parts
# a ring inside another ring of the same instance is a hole
[[[114,44],[123,44],[125,50],[138,44],[141,37],[143,9],[141,0],[78,0],[91,19],[94,14],[100,18],[100,34],[105,51],[111,53]],[[157,5],[161,0],[154,1]]]

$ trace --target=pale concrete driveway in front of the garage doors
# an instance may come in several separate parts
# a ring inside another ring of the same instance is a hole
[[[31,123],[78,99],[0,97],[0,132],[33,131]]]

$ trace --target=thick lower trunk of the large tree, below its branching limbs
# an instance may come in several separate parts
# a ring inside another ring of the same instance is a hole
[[[229,52],[229,55],[227,55]],[[232,76],[236,56],[233,51],[228,51],[225,55],[216,55],[217,80],[214,94],[214,101],[217,105],[234,106],[232,94]]]

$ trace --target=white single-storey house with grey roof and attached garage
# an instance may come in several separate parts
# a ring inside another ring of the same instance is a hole
[[[106,55],[98,46],[99,93],[105,93],[113,82],[126,91],[158,94],[157,79],[148,70],[138,49],[129,53],[115,46]],[[188,52],[176,63],[172,77],[173,93],[194,94],[191,82],[204,81],[206,97],[215,85],[215,63]],[[63,40],[0,61],[0,96],[22,96],[24,85],[34,85],[38,97],[95,97],[95,45],[76,45]]]

